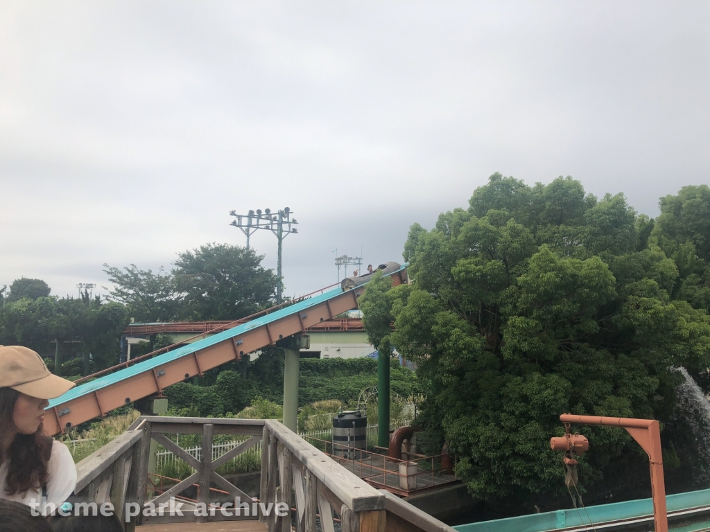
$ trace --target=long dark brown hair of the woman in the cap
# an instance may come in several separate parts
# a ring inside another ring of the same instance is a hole
[[[20,393],[0,388],[0,434],[15,430],[12,421]],[[47,484],[47,465],[52,455],[52,438],[43,436],[40,425],[34,434],[16,434],[7,456],[0,450],[0,462],[8,461],[5,494],[25,493]]]

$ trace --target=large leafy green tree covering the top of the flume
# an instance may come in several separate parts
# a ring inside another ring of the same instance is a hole
[[[710,320],[672,300],[677,267],[640,249],[643,222],[623,195],[599,200],[569,177],[528,187],[494,174],[469,209],[412,227],[412,284],[364,294],[368,333],[384,341],[393,319],[386,341],[430,383],[422,422],[476,497],[561,492],[548,443],[559,414],[668,419],[672,367],[710,365]],[[637,452],[623,431],[584,433],[586,486]]]

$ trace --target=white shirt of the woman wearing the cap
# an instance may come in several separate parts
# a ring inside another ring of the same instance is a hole
[[[0,465],[0,498],[21,502],[28,506],[34,501],[40,503],[41,489],[30,489],[28,492],[14,495],[5,493],[7,468],[8,461],[6,460]],[[67,446],[60,441],[54,440],[53,442],[47,473],[47,502],[53,502],[56,506],[60,506],[74,492],[77,485],[77,468],[74,465],[74,460]],[[40,506],[35,507],[40,509]]]

